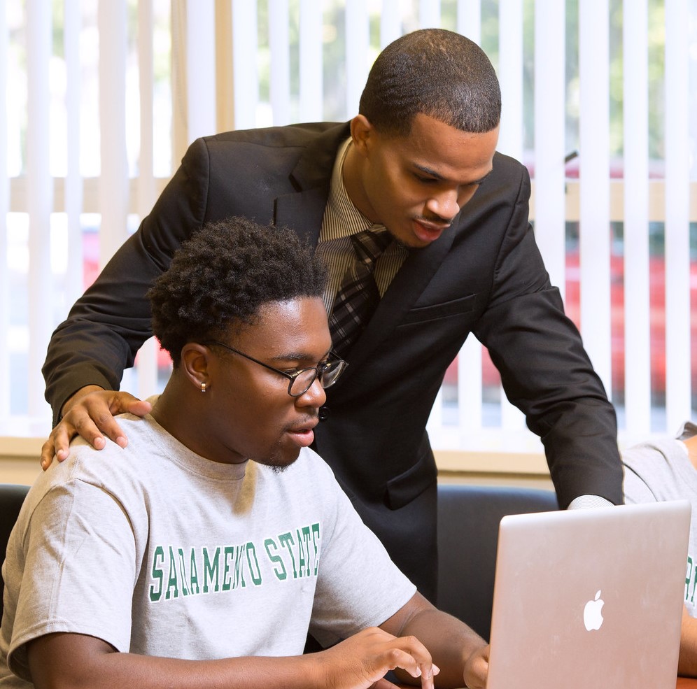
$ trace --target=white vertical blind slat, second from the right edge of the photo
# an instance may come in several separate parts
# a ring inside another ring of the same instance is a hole
[[[624,404],[626,429],[651,428],[648,3],[624,13]]]

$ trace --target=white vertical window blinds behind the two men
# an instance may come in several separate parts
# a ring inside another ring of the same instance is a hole
[[[430,26],[470,36],[498,71],[500,150],[530,169],[537,242],[623,437],[694,418],[697,0],[621,8],[6,0],[0,436],[48,432],[40,368],[50,332],[150,211],[193,138],[347,120],[379,50]],[[124,389],[146,396],[162,386],[167,362],[154,341],[136,364]],[[539,448],[473,337],[429,430],[437,448]]]

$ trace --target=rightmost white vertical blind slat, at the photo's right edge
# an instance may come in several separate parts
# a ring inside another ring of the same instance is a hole
[[[675,432],[690,413],[689,14],[666,2],[666,420]]]

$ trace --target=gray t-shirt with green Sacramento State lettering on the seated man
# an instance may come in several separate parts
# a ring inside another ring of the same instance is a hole
[[[281,473],[195,455],[152,417],[127,448],[71,446],[31,488],[3,566],[0,686],[27,687],[51,632],[169,658],[298,655],[347,637],[415,587],[312,450]]]

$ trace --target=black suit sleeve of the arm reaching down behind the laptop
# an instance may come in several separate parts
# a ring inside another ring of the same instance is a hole
[[[581,336],[549,283],[519,192],[496,262],[491,299],[474,334],[488,347],[508,399],[540,436],[562,507],[579,495],[623,502],[617,419]]]

